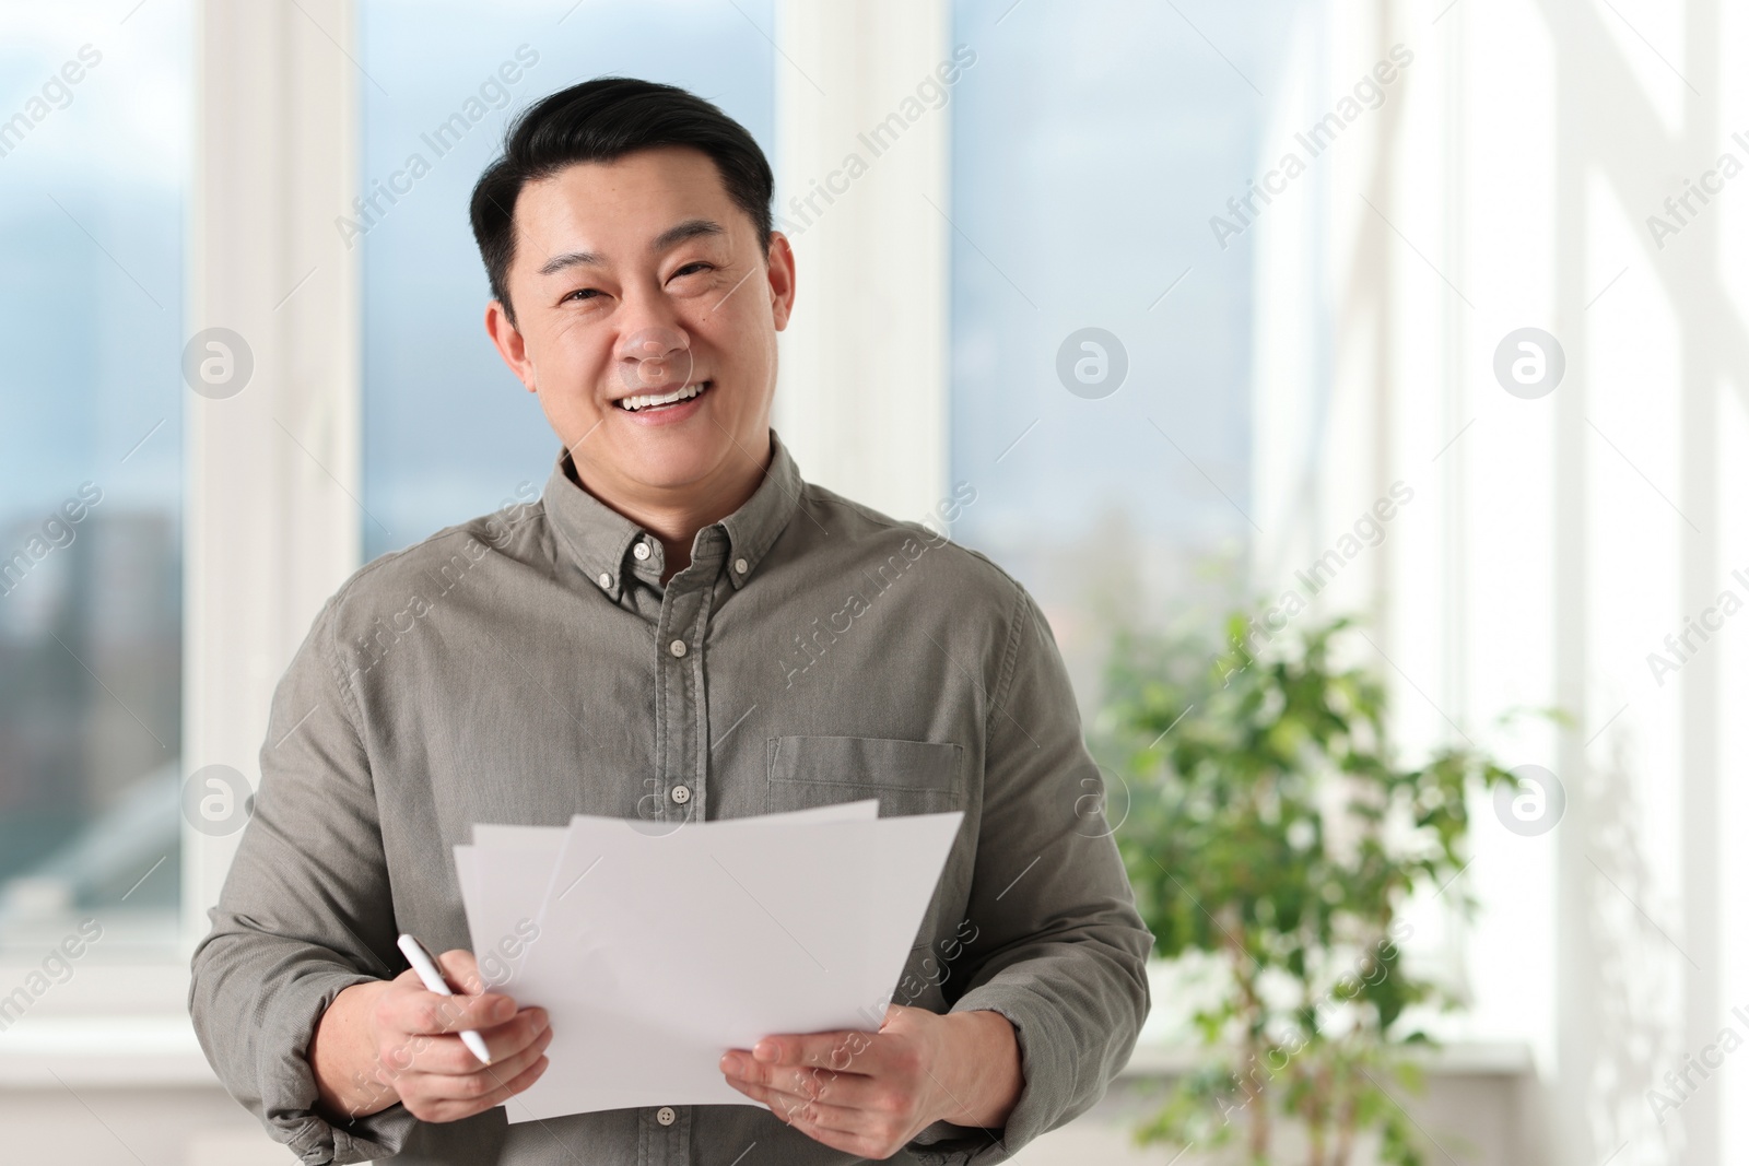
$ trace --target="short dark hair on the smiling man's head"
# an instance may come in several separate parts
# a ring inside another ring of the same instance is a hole
[[[658,145],[689,145],[710,156],[735,205],[771,245],[771,164],[747,129],[710,101],[637,77],[596,77],[560,89],[516,115],[504,154],[474,184],[469,219],[491,294],[511,320],[507,278],[516,255],[516,196],[575,163],[610,163]]]

